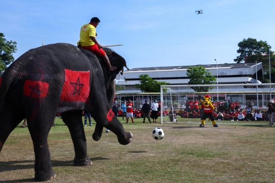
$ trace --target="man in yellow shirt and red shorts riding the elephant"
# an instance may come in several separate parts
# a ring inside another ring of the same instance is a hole
[[[96,27],[99,24],[100,20],[97,17],[93,17],[90,23],[87,23],[81,27],[79,38],[80,40],[77,42],[83,49],[88,49],[93,53],[100,55],[104,62],[107,64],[110,71],[116,70],[116,66],[112,66],[109,58],[107,57],[105,51],[102,48],[102,45],[98,43],[96,40]]]

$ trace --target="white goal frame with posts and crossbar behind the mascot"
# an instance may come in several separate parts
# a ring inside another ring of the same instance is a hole
[[[258,106],[258,86],[269,86],[269,95],[270,95],[270,98],[271,98],[271,91],[275,91],[275,88],[271,88],[271,86],[275,86],[275,83],[262,83],[262,84],[216,84],[216,85],[161,85],[160,86],[160,123],[162,124],[163,121],[163,116],[162,116],[162,113],[163,113],[163,89],[170,89],[170,88],[173,88],[173,87],[236,87],[236,86],[249,86],[249,87],[252,87],[252,86],[256,86],[256,95],[257,95],[257,106]],[[236,88],[236,91],[238,91],[238,89]],[[213,91],[211,91],[213,92]],[[196,93],[195,91],[194,92],[189,92],[189,93]],[[207,92],[204,92],[205,94],[207,94]],[[219,93],[226,93],[226,92],[223,92],[223,91],[216,91],[217,93],[217,98],[218,98],[218,94]],[[170,90],[170,95],[171,95],[171,90]],[[172,97],[171,97],[172,98]],[[173,105],[172,105],[172,110],[173,109]],[[173,115],[173,120],[174,120],[174,115]]]

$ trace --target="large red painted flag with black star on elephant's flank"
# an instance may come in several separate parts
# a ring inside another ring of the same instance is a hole
[[[90,71],[65,69],[65,82],[60,100],[85,102],[90,94]]]

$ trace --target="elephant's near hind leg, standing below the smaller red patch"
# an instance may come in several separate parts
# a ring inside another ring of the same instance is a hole
[[[48,108],[42,105],[29,105],[26,111],[28,129],[30,131],[35,152],[35,180],[45,181],[56,177],[51,168],[50,153],[48,147],[48,133],[54,122],[56,108]]]

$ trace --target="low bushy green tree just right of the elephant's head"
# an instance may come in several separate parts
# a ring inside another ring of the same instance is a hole
[[[135,84],[135,88],[140,88],[142,92],[160,92],[161,85],[170,85],[167,82],[158,82],[149,77],[148,74],[139,75],[140,84]]]

